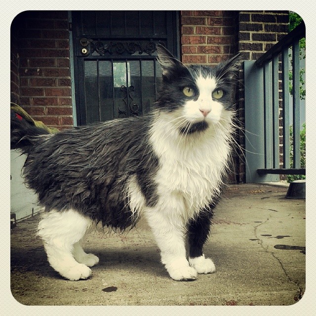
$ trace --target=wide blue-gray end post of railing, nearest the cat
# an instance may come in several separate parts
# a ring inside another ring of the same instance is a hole
[[[259,175],[257,170],[266,166],[265,126],[270,126],[270,115],[265,118],[265,91],[263,87],[264,68],[257,67],[255,61],[244,61],[245,93],[245,157],[246,182],[276,182],[275,174]],[[268,159],[269,160],[269,159]]]

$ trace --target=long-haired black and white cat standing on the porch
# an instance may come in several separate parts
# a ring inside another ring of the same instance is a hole
[[[237,62],[185,66],[162,45],[157,50],[162,86],[147,117],[46,135],[11,121],[11,148],[28,155],[25,180],[46,210],[38,235],[67,279],[88,278],[99,261],[81,247],[91,226],[124,230],[139,218],[173,279],[215,271],[202,247],[228,169]]]

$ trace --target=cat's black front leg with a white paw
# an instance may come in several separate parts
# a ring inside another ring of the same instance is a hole
[[[203,210],[197,218],[191,220],[188,226],[189,263],[198,274],[215,272],[215,265],[203,254],[203,245],[210,231],[212,213]]]

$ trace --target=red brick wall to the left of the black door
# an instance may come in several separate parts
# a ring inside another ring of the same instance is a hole
[[[19,105],[59,129],[73,125],[68,26],[67,11],[26,11],[11,28],[17,34]]]

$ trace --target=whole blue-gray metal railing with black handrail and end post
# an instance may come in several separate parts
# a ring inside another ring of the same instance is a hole
[[[246,182],[274,182],[279,180],[280,174],[306,172],[300,165],[300,40],[302,38],[305,38],[304,22],[257,61],[244,62]],[[291,111],[290,71],[293,80]],[[290,112],[293,114],[292,118]],[[293,123],[292,166],[290,163],[291,120]]]

